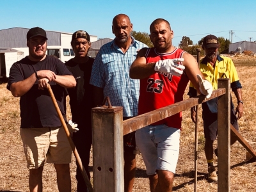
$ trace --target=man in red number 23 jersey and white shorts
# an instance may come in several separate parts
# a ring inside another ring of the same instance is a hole
[[[139,115],[183,100],[189,80],[200,93],[211,97],[212,86],[203,79],[191,54],[172,45],[173,31],[167,20],[150,25],[153,48],[143,48],[132,63],[130,77],[140,79]],[[150,191],[172,191],[179,157],[181,112],[136,131],[136,144],[147,167]]]

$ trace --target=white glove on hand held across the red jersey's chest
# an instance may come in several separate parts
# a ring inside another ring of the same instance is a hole
[[[164,74],[172,74],[173,76],[181,76],[185,67],[178,64],[184,61],[184,58],[177,58],[173,60],[160,60],[156,62],[155,70],[163,72]]]

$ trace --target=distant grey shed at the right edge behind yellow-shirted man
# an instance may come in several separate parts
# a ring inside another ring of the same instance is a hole
[[[236,42],[234,44],[229,44],[228,51],[234,52],[243,52],[243,51],[253,51],[256,52],[256,43],[255,42]]]

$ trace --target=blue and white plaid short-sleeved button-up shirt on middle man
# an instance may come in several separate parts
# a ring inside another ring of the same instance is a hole
[[[93,63],[90,84],[103,88],[104,97],[109,97],[112,106],[124,108],[124,116],[138,115],[140,80],[131,79],[129,70],[143,47],[147,45],[132,37],[132,44],[124,53],[113,40],[100,48]]]

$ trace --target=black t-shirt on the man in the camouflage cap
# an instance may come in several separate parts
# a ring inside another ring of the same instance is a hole
[[[92,84],[90,84],[93,58],[86,63],[75,63],[69,60],[65,63],[68,70],[76,79],[76,87],[68,88],[72,121],[77,123],[79,129],[92,129]]]

